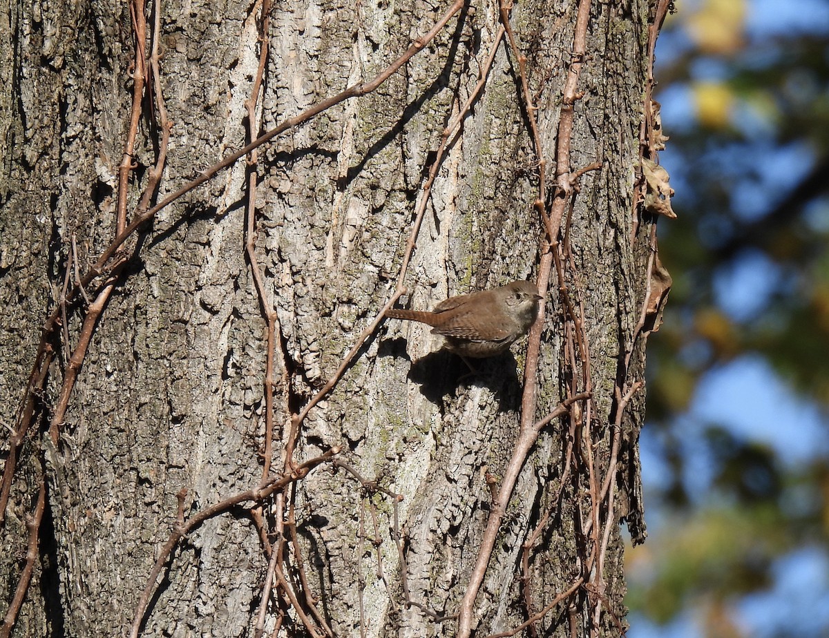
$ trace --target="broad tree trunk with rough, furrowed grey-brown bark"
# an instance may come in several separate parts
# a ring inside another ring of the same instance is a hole
[[[2,635],[620,634],[666,3],[455,8],[2,9]],[[476,375],[361,336],[516,278],[543,322]]]

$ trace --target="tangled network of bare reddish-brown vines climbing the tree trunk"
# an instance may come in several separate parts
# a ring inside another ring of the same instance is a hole
[[[266,273],[259,264],[256,254],[257,245],[257,186],[259,185],[258,162],[259,147],[270,143],[279,136],[300,124],[308,122],[311,118],[322,114],[337,104],[350,99],[356,99],[370,94],[379,86],[383,85],[390,76],[397,73],[409,60],[416,56],[419,51],[433,41],[440,31],[452,22],[453,17],[461,12],[467,0],[454,0],[437,22],[422,36],[410,43],[410,46],[396,60],[376,75],[373,80],[353,85],[341,93],[323,99],[314,104],[293,118],[285,119],[278,126],[261,132],[257,104],[263,99],[263,78],[269,59],[269,14],[271,12],[271,0],[258,0],[255,2],[252,11],[258,12],[259,28],[259,65],[252,84],[250,95],[245,102],[246,107],[246,134],[250,140],[245,147],[227,155],[221,162],[199,173],[196,178],[187,182],[176,191],[158,200],[158,185],[162,180],[167,159],[167,147],[172,134],[172,123],[167,115],[165,100],[162,94],[162,41],[161,12],[158,2],[153,2],[152,12],[148,12],[148,4],[144,0],[130,0],[129,11],[132,18],[133,28],[133,62],[132,62],[132,109],[129,116],[128,131],[124,138],[123,159],[119,164],[118,198],[116,205],[116,220],[114,225],[114,238],[110,241],[104,251],[99,254],[95,263],[86,270],[80,272],[80,263],[77,258],[77,251],[70,251],[69,259],[65,264],[65,279],[61,294],[61,302],[56,304],[54,310],[46,318],[44,323],[40,344],[34,357],[32,373],[28,379],[27,387],[22,394],[22,400],[17,413],[17,422],[12,428],[9,439],[9,453],[2,474],[0,483],[0,526],[6,520],[9,500],[12,495],[12,483],[15,471],[20,462],[23,444],[27,437],[31,437],[32,431],[36,429],[37,423],[41,423],[42,415],[49,415],[48,436],[45,437],[44,447],[50,443],[51,446],[59,445],[61,427],[64,423],[65,413],[70,404],[75,380],[79,370],[85,361],[85,355],[90,346],[90,341],[95,335],[96,326],[102,321],[107,307],[107,302],[116,285],[129,274],[124,268],[130,259],[140,250],[138,235],[146,229],[148,222],[158,215],[159,211],[167,208],[173,202],[178,201],[187,192],[195,189],[206,181],[211,180],[225,168],[235,165],[240,160],[245,160],[245,256],[250,267],[250,273],[255,283],[255,290],[259,299],[259,308],[265,321],[267,330],[264,341],[266,341],[267,360],[262,379],[261,389],[264,399],[264,447],[259,451],[261,457],[261,479],[258,485],[250,489],[231,495],[224,500],[207,506],[187,517],[185,515],[187,502],[187,489],[182,489],[178,495],[178,510],[176,523],[170,534],[157,550],[156,559],[152,571],[148,574],[143,592],[134,610],[133,623],[129,630],[129,636],[137,638],[143,630],[143,625],[151,613],[151,600],[153,592],[158,587],[158,578],[162,569],[169,561],[177,545],[182,541],[188,532],[195,529],[204,521],[216,516],[228,513],[234,508],[245,505],[250,508],[251,519],[255,521],[255,528],[259,534],[259,540],[267,557],[268,568],[266,577],[262,584],[262,592],[259,597],[259,610],[256,616],[255,636],[263,636],[266,626],[269,603],[274,602],[277,610],[272,635],[277,636],[280,627],[291,615],[298,621],[310,636],[334,636],[332,628],[328,626],[324,614],[319,609],[319,599],[315,597],[313,588],[309,585],[308,576],[304,567],[303,551],[298,544],[295,518],[295,494],[298,483],[308,476],[317,466],[328,464],[342,470],[350,476],[359,486],[361,493],[368,498],[362,500],[360,512],[360,542],[366,548],[373,548],[376,552],[376,563],[378,573],[385,580],[383,572],[383,558],[376,539],[381,536],[380,524],[378,523],[377,505],[374,496],[388,500],[392,517],[391,533],[394,539],[397,556],[400,561],[400,585],[405,597],[405,605],[415,607],[429,616],[434,622],[448,620],[457,621],[458,638],[468,638],[473,630],[473,609],[478,596],[478,590],[482,586],[484,576],[487,573],[487,565],[492,557],[493,548],[497,543],[499,529],[501,528],[507,503],[515,489],[516,481],[525,464],[532,447],[535,445],[542,428],[554,419],[564,418],[569,422],[568,447],[566,449],[566,462],[564,476],[561,478],[561,486],[565,485],[568,473],[571,471],[571,463],[575,447],[579,441],[590,441],[589,428],[593,422],[593,388],[591,385],[590,369],[590,343],[587,331],[584,328],[584,302],[576,293],[570,292],[567,286],[567,271],[575,268],[574,257],[570,252],[569,214],[572,211],[575,197],[578,196],[579,179],[586,172],[596,171],[601,167],[600,162],[595,162],[583,167],[572,167],[570,162],[571,138],[574,128],[574,104],[582,95],[579,93],[579,73],[588,55],[586,35],[588,32],[589,17],[592,0],[579,0],[576,23],[570,59],[566,69],[566,81],[563,89],[563,96],[560,107],[560,118],[558,128],[555,132],[556,150],[552,161],[555,164],[555,179],[550,181],[546,175],[548,158],[544,156],[541,143],[541,132],[536,120],[536,105],[533,101],[530,85],[527,77],[527,59],[521,52],[521,47],[516,34],[511,26],[511,0],[500,0],[499,20],[494,41],[486,56],[479,63],[479,78],[474,85],[468,99],[460,105],[457,111],[447,118],[448,124],[444,128],[440,138],[439,147],[430,156],[428,167],[424,167],[424,183],[414,210],[414,221],[411,225],[410,234],[405,244],[404,254],[400,264],[400,270],[396,276],[396,286],[390,295],[385,306],[376,313],[361,335],[356,339],[351,350],[342,359],[336,372],[327,383],[308,400],[306,404],[293,415],[289,424],[287,444],[282,451],[282,466],[274,469],[272,459],[274,457],[274,436],[277,426],[274,424],[274,399],[279,397],[279,388],[285,387],[285,379],[275,379],[276,370],[286,370],[284,360],[280,360],[280,349],[277,347],[279,336],[279,317],[274,309],[274,302],[269,298],[268,286],[266,285]],[[667,0],[660,0],[657,6],[656,16],[652,21],[648,41],[649,68],[652,69],[653,46],[657,38],[659,27],[669,8]],[[342,376],[353,364],[359,355],[366,340],[373,336],[383,320],[387,309],[402,296],[407,290],[404,285],[407,268],[410,259],[417,245],[418,234],[421,222],[424,218],[424,211],[427,208],[432,186],[439,169],[444,162],[448,147],[463,129],[464,120],[470,114],[473,104],[479,98],[487,85],[487,76],[492,68],[493,60],[501,46],[505,46],[511,60],[515,65],[516,72],[516,99],[521,103],[521,109],[525,114],[525,121],[528,124],[532,145],[536,153],[534,166],[536,167],[538,192],[532,205],[538,218],[543,225],[544,237],[540,250],[540,262],[537,264],[538,280],[537,285],[541,295],[545,295],[551,284],[560,294],[562,305],[565,308],[565,330],[563,333],[563,350],[566,365],[570,366],[573,374],[570,375],[566,388],[566,397],[560,404],[548,413],[544,418],[536,419],[536,371],[539,365],[539,352],[541,345],[541,329],[544,323],[544,308],[541,308],[541,317],[536,321],[530,337],[526,355],[525,385],[521,399],[521,421],[520,430],[517,433],[516,441],[511,450],[510,460],[506,471],[501,477],[500,486],[492,486],[492,507],[488,515],[486,528],[482,535],[482,541],[477,549],[477,557],[473,563],[473,570],[468,585],[458,609],[449,615],[440,614],[429,609],[423,603],[414,600],[410,595],[406,582],[404,534],[401,531],[401,524],[398,514],[398,504],[402,496],[393,491],[385,489],[378,481],[361,476],[349,463],[338,457],[341,452],[339,447],[331,447],[319,457],[312,458],[305,462],[297,462],[294,458],[298,440],[300,438],[303,422],[308,413],[329,394]],[[647,95],[645,99],[645,117],[642,120],[642,131],[640,133],[641,160],[643,164],[653,159],[658,150],[658,136],[653,132],[658,128],[658,114],[652,108],[650,98],[652,90],[652,73],[648,77]],[[128,211],[130,199],[130,176],[136,169],[133,162],[133,151],[136,147],[139,123],[148,119],[152,127],[148,134],[156,136],[158,143],[155,144],[155,164],[148,172],[143,181],[143,191],[132,201],[138,203],[133,210]],[[648,165],[649,166],[649,165]],[[552,192],[548,192],[552,184]],[[642,186],[642,195],[637,205],[647,196],[644,191],[647,185]],[[632,211],[635,217],[635,211]],[[654,225],[655,232],[655,225]],[[653,250],[652,258],[647,267],[647,297],[642,305],[641,316],[636,327],[636,334],[633,341],[644,336],[649,330],[650,318],[658,310],[658,303],[661,302],[666,292],[666,286],[662,278],[657,275],[660,272],[658,260],[656,259],[656,238],[652,235]],[[70,332],[68,330],[70,307],[83,298],[86,302],[85,313],[82,318],[82,325],[78,331],[75,343],[70,343]],[[63,376],[60,379],[60,392],[51,405],[45,404],[45,388],[54,370],[52,365],[59,354],[56,349],[56,341],[62,341],[62,348],[68,355],[68,362],[63,367]],[[69,354],[70,353],[70,354]],[[628,344],[624,365],[627,367],[633,355],[633,342]],[[286,373],[287,374],[287,373]],[[542,513],[540,520],[526,541],[522,545],[521,570],[523,583],[523,603],[526,607],[526,621],[497,636],[514,636],[517,633],[527,630],[533,636],[538,635],[536,629],[537,621],[549,614],[555,607],[558,607],[579,592],[586,589],[590,592],[591,600],[594,601],[593,614],[594,624],[599,625],[599,615],[603,611],[604,583],[604,558],[608,549],[611,526],[614,524],[613,516],[613,492],[617,476],[616,463],[621,442],[622,418],[625,408],[633,398],[633,395],[641,388],[639,380],[628,380],[628,375],[619,375],[615,396],[615,423],[612,428],[611,454],[608,466],[599,466],[592,457],[591,446],[586,445],[578,453],[588,459],[586,464],[589,472],[589,498],[591,508],[585,520],[582,522],[582,529],[589,537],[589,550],[586,552],[584,565],[580,574],[574,578],[569,587],[558,592],[549,602],[542,607],[533,600],[530,586],[531,580],[531,552],[538,542],[541,532],[550,516],[554,512],[547,510]],[[287,399],[286,399],[287,400]],[[577,433],[580,433],[577,436]],[[36,453],[36,452],[35,452]],[[46,453],[43,449],[39,452]],[[32,579],[32,573],[38,560],[37,545],[41,533],[41,522],[44,518],[47,498],[47,481],[45,476],[40,477],[39,491],[27,519],[27,553],[25,563],[14,587],[14,593],[9,604],[6,616],[0,627],[0,638],[11,636],[15,626],[17,615],[21,610],[22,603],[27,595],[27,589]],[[550,503],[555,504],[559,500],[553,498]],[[551,506],[552,507],[552,506]],[[269,522],[272,521],[272,522]],[[289,573],[290,572],[290,573]],[[361,628],[366,631],[365,610],[362,605],[361,592]],[[621,628],[620,621],[617,622]],[[490,636],[495,638],[495,636]]]

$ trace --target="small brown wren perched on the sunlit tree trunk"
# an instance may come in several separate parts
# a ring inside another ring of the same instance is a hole
[[[387,310],[386,317],[410,319],[432,326],[446,337],[446,347],[462,357],[500,355],[526,335],[538,317],[541,296],[532,282],[512,282],[501,288],[449,297],[432,312]]]

